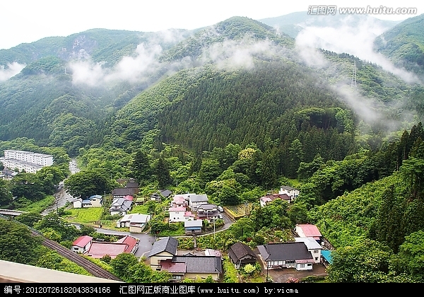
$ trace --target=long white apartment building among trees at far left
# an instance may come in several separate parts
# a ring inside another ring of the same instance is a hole
[[[53,165],[53,156],[32,151],[18,151],[13,149],[4,150],[4,158],[1,160],[4,167],[14,170],[25,170],[27,173],[36,173],[45,166]]]

